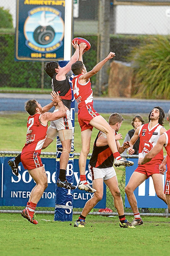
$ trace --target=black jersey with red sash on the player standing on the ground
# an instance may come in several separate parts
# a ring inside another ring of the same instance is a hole
[[[99,134],[100,132],[98,132]],[[93,152],[89,164],[96,168],[108,168],[113,166],[114,156],[109,145],[97,147],[96,141],[98,134],[93,145]]]

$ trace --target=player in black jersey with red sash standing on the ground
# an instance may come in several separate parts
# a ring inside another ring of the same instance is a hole
[[[109,117],[109,125],[115,130],[116,134],[119,131],[124,118],[118,113],[111,114]],[[130,144],[129,141],[124,142],[123,146],[120,146],[119,140],[122,139],[122,135],[119,133],[115,135],[116,145],[119,153],[123,153]],[[93,153],[88,165],[89,172],[92,176],[93,188],[95,192],[93,198],[89,199],[83,208],[79,219],[75,221],[74,227],[84,228],[86,224],[85,219],[88,213],[96,206],[96,204],[103,197],[103,181],[109,187],[109,190],[114,198],[114,206],[118,211],[119,225],[121,228],[135,228],[125,218],[123,202],[118,187],[118,180],[116,172],[113,167],[114,156],[108,145],[106,134],[99,132],[93,146]]]

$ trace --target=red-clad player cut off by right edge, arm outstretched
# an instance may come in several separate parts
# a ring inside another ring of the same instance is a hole
[[[167,121],[170,125],[170,110],[168,111]],[[164,174],[166,171],[166,163],[167,163],[167,173],[166,173],[166,182],[164,194],[166,197],[166,202],[168,205],[168,209],[170,212],[170,129],[167,132],[164,132],[159,138],[156,145],[151,149],[144,158],[139,158],[139,164],[146,164],[150,162],[155,156],[162,151],[162,148],[165,147],[167,156],[162,161],[159,166],[160,173]]]

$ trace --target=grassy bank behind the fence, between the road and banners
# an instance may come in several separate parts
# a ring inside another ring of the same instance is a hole
[[[110,114],[101,114],[106,120],[108,120]],[[123,115],[124,122],[120,128],[120,133],[122,133],[123,137],[125,134],[132,129],[132,125],[130,124],[134,115]],[[142,115],[145,123],[148,122],[147,115]],[[27,131],[27,118],[28,114],[26,112],[13,112],[9,114],[8,112],[0,113],[0,134],[1,145],[0,150],[9,150],[9,151],[21,151],[23,145],[26,141],[26,131]],[[10,125],[9,125],[10,124]],[[169,124],[165,120],[165,128],[169,129]],[[92,138],[91,138],[91,147],[90,153],[92,153],[93,142],[98,133],[97,129],[93,129]],[[123,140],[120,140],[120,144],[123,144]],[[77,113],[75,113],[75,133],[74,133],[74,149],[75,153],[81,152],[81,130],[77,120]],[[43,150],[47,152],[55,152],[56,151],[56,143],[47,147],[47,149]],[[165,153],[166,154],[166,153]]]

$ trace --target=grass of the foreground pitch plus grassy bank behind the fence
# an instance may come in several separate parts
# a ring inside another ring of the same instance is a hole
[[[106,120],[109,114],[102,114]],[[134,115],[123,115],[120,133],[132,129]],[[147,115],[142,115],[147,122]],[[27,113],[0,114],[0,150],[20,151],[25,143]],[[10,125],[9,125],[10,124]],[[166,129],[169,129],[165,121]],[[97,130],[91,140],[91,152]],[[123,142],[123,141],[122,141]],[[121,143],[121,142],[120,142]],[[81,132],[75,115],[75,152],[81,151]],[[55,152],[53,142],[45,151]],[[118,179],[121,168],[116,170]],[[73,216],[73,220],[78,216]],[[170,220],[164,217],[142,216],[144,224],[136,229],[119,227],[118,216],[87,216],[84,229],[74,228],[72,222],[55,222],[54,215],[37,215],[38,225],[32,225],[20,214],[0,213],[0,255],[20,256],[164,256],[169,255]],[[132,221],[132,216],[128,216]]]

